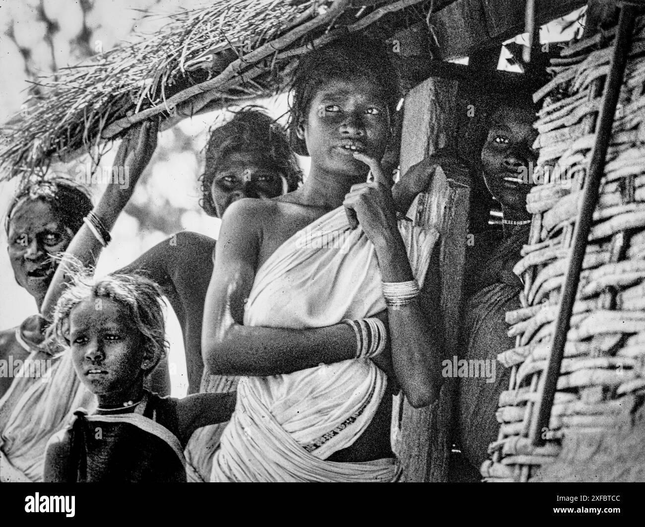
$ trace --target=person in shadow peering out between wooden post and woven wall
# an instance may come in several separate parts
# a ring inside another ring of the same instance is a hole
[[[484,183],[501,205],[502,231],[475,234],[464,273],[465,355],[460,359],[492,361],[486,379],[459,379],[459,444],[475,470],[488,458],[488,445],[497,440],[495,418],[499,395],[508,390],[510,370],[497,363],[497,354],[512,348],[506,312],[520,307],[522,283],[513,273],[522,246],[528,242],[531,215],[526,196],[534,182],[537,152],[533,143],[535,111],[530,91],[519,90],[513,97],[497,101],[488,134],[481,150]],[[495,369],[493,370],[493,366]]]

